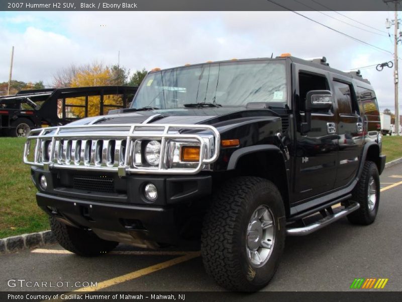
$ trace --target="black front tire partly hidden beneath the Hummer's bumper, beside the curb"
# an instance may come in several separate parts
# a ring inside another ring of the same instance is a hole
[[[58,243],[79,256],[99,256],[113,250],[118,243],[97,237],[91,231],[74,228],[50,217],[50,227]]]

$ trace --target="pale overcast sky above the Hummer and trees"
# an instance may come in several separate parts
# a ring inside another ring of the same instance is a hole
[[[0,12],[0,82],[8,81],[13,45],[13,79],[49,86],[60,68],[92,61],[114,64],[119,50],[120,64],[131,70],[283,52],[302,58],[326,56],[341,70],[393,59],[385,28],[385,19],[392,19],[393,12],[341,12],[385,33],[336,12],[300,13],[390,53],[292,12]],[[374,86],[381,111],[394,111],[393,68],[361,71]]]

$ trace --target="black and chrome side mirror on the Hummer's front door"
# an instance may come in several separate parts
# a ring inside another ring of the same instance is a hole
[[[300,132],[306,134],[311,130],[311,112],[332,107],[332,93],[329,90],[311,90],[306,95],[305,121],[300,124]]]

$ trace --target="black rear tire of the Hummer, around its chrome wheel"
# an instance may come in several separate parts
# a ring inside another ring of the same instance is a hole
[[[375,205],[372,210],[369,209],[367,196],[369,181],[371,177],[374,179],[377,191]],[[373,162],[366,161],[364,163],[361,177],[357,182],[356,187],[353,189],[352,200],[360,203],[360,208],[347,216],[349,222],[361,225],[368,225],[373,223],[375,217],[377,216],[380,201],[380,179],[377,166]]]

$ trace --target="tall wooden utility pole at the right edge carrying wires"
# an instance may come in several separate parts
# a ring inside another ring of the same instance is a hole
[[[393,43],[394,43],[394,73],[393,73],[393,83],[395,85],[395,134],[399,135],[399,103],[398,103],[398,42],[399,40],[399,20],[398,20],[398,3],[400,0],[383,0],[384,3],[393,2],[395,4],[395,15],[394,20],[391,22],[387,19],[386,27],[390,28],[391,23],[394,25],[394,36],[393,36]]]

